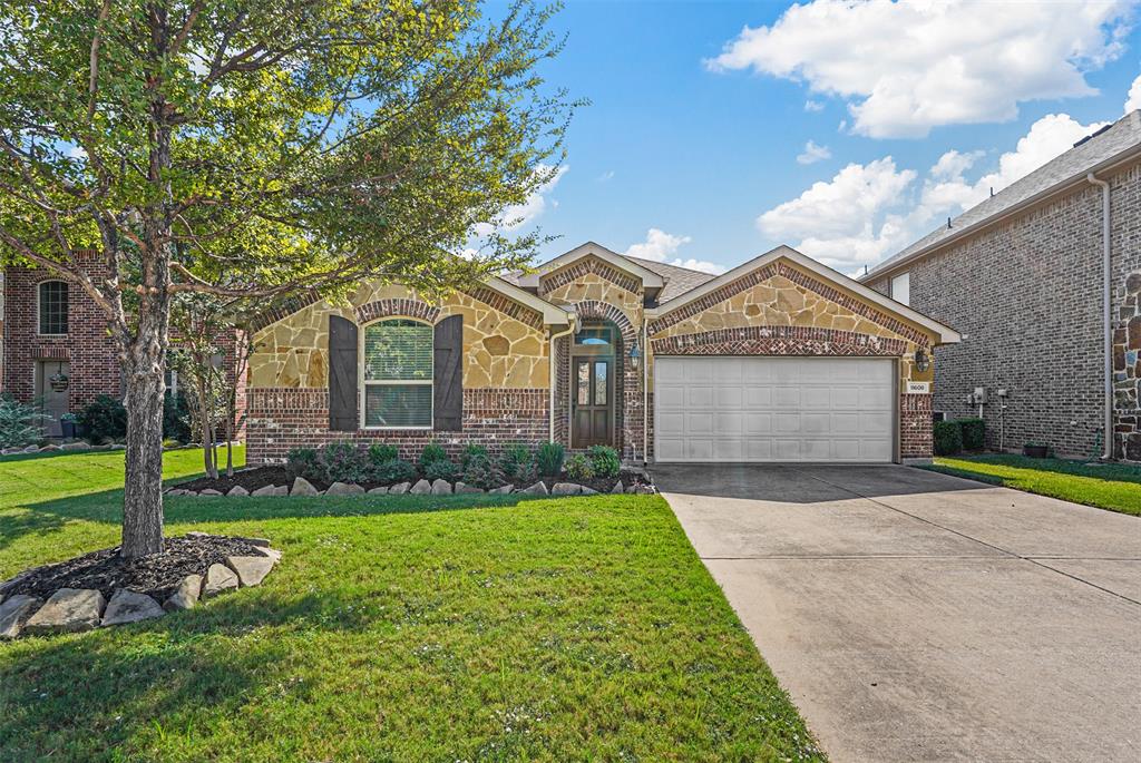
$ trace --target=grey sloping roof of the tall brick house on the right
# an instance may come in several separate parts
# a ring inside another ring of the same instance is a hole
[[[1000,218],[1018,212],[1047,196],[1087,182],[1086,174],[1108,169],[1141,154],[1141,111],[1133,111],[1092,136],[1079,140],[1061,156],[976,204],[950,226],[941,226],[901,252],[889,257],[860,277],[875,278],[889,270],[968,236]]]

